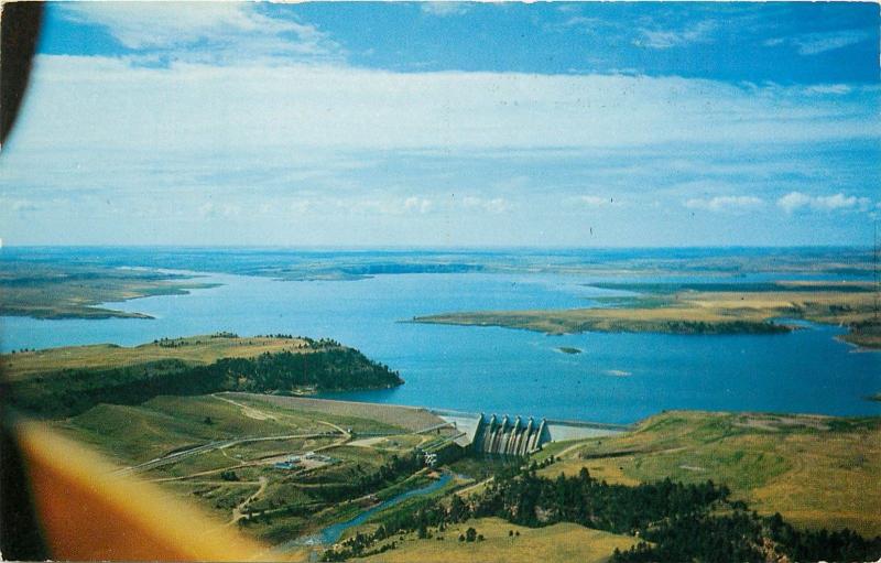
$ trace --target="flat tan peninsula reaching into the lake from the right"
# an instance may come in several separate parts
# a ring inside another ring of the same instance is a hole
[[[841,339],[881,348],[872,282],[594,283],[637,292],[596,297],[597,307],[477,311],[416,316],[415,323],[524,328],[546,334],[651,332],[666,334],[779,334],[804,320],[848,326]],[[605,305],[605,306],[602,306]]]

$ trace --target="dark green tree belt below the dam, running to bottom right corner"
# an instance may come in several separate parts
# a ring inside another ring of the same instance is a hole
[[[577,476],[555,479],[530,468],[502,468],[483,492],[463,500],[454,495],[446,506],[429,500],[383,517],[374,534],[359,543],[361,551],[395,533],[429,528],[443,531],[469,518],[500,517],[526,527],[576,522],[612,533],[635,535],[640,542],[612,555],[614,563],[650,561],[875,561],[881,537],[866,539],[850,530],[796,530],[780,515],[761,517],[711,480],[683,485],[664,479],[634,487],[609,485],[583,468]],[[477,534],[477,532],[475,532]],[[465,539],[467,541],[467,538]],[[351,550],[348,546],[347,550]],[[330,557],[336,556],[334,554]]]

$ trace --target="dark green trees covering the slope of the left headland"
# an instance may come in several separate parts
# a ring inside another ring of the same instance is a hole
[[[358,350],[331,347],[309,354],[222,358],[207,366],[162,359],[111,369],[65,369],[51,377],[14,382],[10,400],[32,413],[72,416],[98,403],[139,404],[160,394],[285,393],[306,386],[329,391],[401,383],[399,373],[388,366]]]

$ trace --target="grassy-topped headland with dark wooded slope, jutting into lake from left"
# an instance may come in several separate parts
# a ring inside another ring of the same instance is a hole
[[[157,396],[218,391],[295,393],[378,389],[403,381],[388,366],[333,340],[220,334],[135,348],[84,346],[11,354],[9,402],[45,416],[100,403],[139,404]]]

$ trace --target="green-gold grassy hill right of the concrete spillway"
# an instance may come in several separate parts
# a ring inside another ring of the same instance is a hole
[[[665,412],[631,433],[556,443],[535,454],[558,461],[540,473],[587,467],[609,483],[713,479],[760,513],[805,528],[881,533],[881,419]]]

